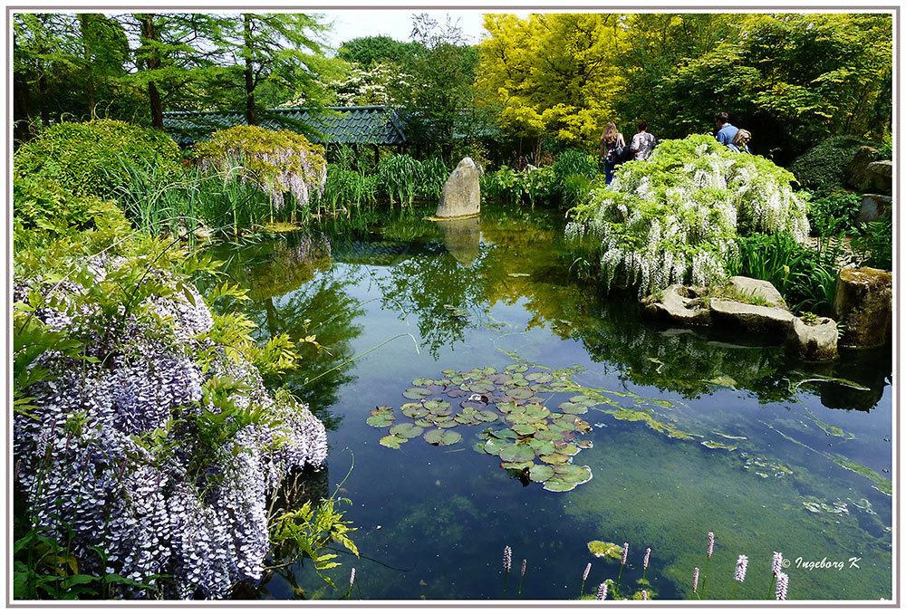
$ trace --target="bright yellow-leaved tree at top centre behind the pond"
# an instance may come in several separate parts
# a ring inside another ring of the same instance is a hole
[[[595,142],[615,119],[626,75],[613,62],[625,36],[619,14],[486,14],[477,86],[502,108],[506,130],[573,146]]]

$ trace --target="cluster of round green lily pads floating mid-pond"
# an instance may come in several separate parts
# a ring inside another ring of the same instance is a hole
[[[599,400],[573,395],[552,411],[541,395],[568,392],[570,385],[550,372],[528,371],[528,366],[516,363],[504,371],[448,369],[442,379],[415,379],[412,388],[402,393],[410,402],[400,407],[411,421],[398,422],[393,408],[381,406],[371,411],[366,422],[389,427],[389,435],[380,443],[394,449],[417,437],[435,446],[450,446],[462,438],[456,427],[488,424],[473,446],[477,452],[499,457],[500,466],[526,484],[541,483],[554,492],[573,490],[592,479],[591,469],[573,465],[572,459],[592,446],[582,437],[592,427],[579,416]]]

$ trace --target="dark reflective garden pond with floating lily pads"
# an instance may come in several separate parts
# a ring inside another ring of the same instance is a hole
[[[890,348],[820,366],[659,328],[575,274],[562,212],[432,211],[218,253],[262,336],[323,346],[286,382],[328,427],[315,490],[342,483],[359,527],[339,590],[308,561],[256,597],[336,599],[355,567],[352,599],[571,600],[591,562],[586,596],[695,599],[698,567],[708,599],[765,599],[777,551],[789,599],[892,598]],[[622,575],[593,541],[629,543]]]

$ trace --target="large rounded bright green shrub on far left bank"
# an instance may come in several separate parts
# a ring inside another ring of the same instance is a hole
[[[14,154],[14,181],[44,177],[76,195],[110,198],[130,177],[121,160],[150,163],[159,174],[177,176],[179,148],[169,136],[124,121],[55,124]]]

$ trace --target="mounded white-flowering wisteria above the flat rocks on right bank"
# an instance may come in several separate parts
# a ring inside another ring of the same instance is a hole
[[[671,283],[706,285],[727,275],[737,233],[805,241],[807,203],[790,187],[793,178],[708,135],[664,140],[651,158],[623,164],[609,187],[575,207],[566,235],[600,241],[608,288],[619,273],[640,294]]]

